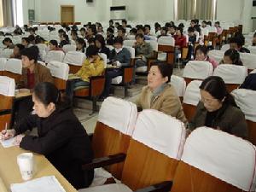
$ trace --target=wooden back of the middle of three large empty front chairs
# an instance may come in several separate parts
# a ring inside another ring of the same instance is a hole
[[[121,181],[132,191],[172,181],[177,163],[177,160],[131,139]]]

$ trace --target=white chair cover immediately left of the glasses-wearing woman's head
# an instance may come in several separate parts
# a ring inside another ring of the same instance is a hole
[[[186,88],[185,94],[183,96],[183,103],[190,104],[196,106],[198,102],[201,100],[200,94],[200,80],[191,81]]]

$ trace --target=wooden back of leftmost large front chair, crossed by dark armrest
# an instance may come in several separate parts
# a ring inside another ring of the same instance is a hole
[[[108,127],[100,122],[96,123],[96,129],[93,134],[92,148],[95,157],[104,157],[111,154],[126,154],[131,137],[125,136],[119,131]],[[106,169],[113,174],[113,177],[121,178],[124,163],[108,166]]]

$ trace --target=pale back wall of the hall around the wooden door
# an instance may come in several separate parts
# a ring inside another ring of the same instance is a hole
[[[251,16],[256,15],[253,0],[217,0],[217,20],[241,20],[245,33],[252,31]],[[23,0],[24,23],[28,9],[35,9],[36,21],[61,21],[61,5],[74,5],[75,21],[108,21],[110,6],[125,5],[128,20],[174,20],[174,0]],[[253,13],[252,13],[253,11]]]

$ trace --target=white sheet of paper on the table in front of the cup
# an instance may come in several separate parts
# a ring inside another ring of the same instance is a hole
[[[55,176],[47,176],[33,179],[24,183],[11,184],[12,192],[66,192]]]

